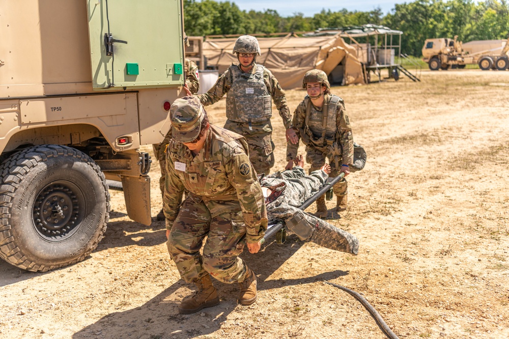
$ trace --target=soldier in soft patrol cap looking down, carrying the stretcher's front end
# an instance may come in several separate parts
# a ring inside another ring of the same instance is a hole
[[[179,311],[190,314],[219,303],[211,275],[240,283],[239,302],[252,304],[256,275],[239,255],[246,242],[249,252],[260,250],[267,211],[247,142],[210,125],[195,97],[175,100],[170,114],[173,139],[166,152],[163,197],[167,246],[182,279],[198,287]],[[181,204],[184,190],[188,194]]]

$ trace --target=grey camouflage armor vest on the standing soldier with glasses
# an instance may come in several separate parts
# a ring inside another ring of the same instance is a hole
[[[230,67],[232,87],[226,98],[226,116],[235,122],[261,122],[272,116],[269,90],[263,81],[263,69],[243,73],[237,66]]]

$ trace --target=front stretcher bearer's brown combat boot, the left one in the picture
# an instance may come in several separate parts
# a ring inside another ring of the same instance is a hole
[[[212,285],[208,273],[194,284],[198,287],[196,293],[185,297],[179,305],[179,312],[182,314],[196,313],[204,307],[215,306],[219,303],[216,288]]]

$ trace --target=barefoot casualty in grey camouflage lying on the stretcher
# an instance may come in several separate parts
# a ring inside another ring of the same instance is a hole
[[[359,240],[354,235],[299,209],[324,186],[329,177],[330,166],[325,164],[320,170],[306,175],[302,168],[302,156],[298,156],[297,160],[297,166],[292,170],[277,172],[260,179],[266,196],[269,224],[284,221],[287,230],[295,233],[301,240],[357,255]]]

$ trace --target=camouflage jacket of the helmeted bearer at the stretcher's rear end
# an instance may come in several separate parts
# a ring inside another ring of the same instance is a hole
[[[324,105],[325,103],[329,103],[331,99],[330,95],[325,95]],[[306,96],[306,98],[297,106],[295,109],[295,113],[293,115],[293,129],[301,139],[300,133],[302,129],[305,127],[306,121],[306,110],[308,107],[308,103],[311,99]],[[309,112],[309,124],[308,128],[313,133],[315,138],[322,137],[323,134],[323,112],[322,108],[317,109],[313,104],[310,104],[310,112]],[[327,112],[327,127],[325,130],[325,139],[328,142],[337,143],[338,146],[341,147],[341,158],[343,164],[353,164],[353,136],[352,136],[352,128],[350,126],[350,119],[346,113],[345,105],[343,104],[343,100],[340,99],[338,102],[336,109],[331,111],[331,109]],[[296,145],[288,142],[287,143],[287,160],[295,159],[297,156],[297,150],[299,148],[299,143]],[[324,146],[322,148],[316,147],[324,152],[327,152],[327,147]]]

